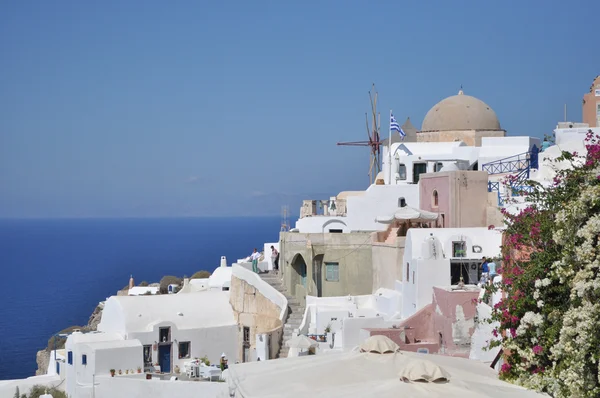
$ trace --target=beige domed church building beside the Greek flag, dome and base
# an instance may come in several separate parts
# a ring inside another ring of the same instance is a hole
[[[463,141],[481,146],[482,137],[504,137],[496,112],[485,102],[462,90],[433,106],[425,115],[417,142]]]

